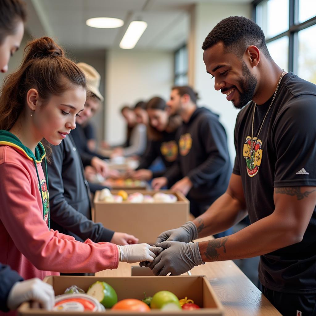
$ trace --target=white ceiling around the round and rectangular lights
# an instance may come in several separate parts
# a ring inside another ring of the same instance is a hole
[[[148,27],[135,49],[175,50],[189,33],[189,11],[197,2],[214,0],[26,0],[30,35],[48,35],[67,50],[119,48],[125,30],[133,20],[143,20]],[[246,3],[249,0],[222,0]],[[92,17],[116,17],[122,27],[98,29],[85,22]]]

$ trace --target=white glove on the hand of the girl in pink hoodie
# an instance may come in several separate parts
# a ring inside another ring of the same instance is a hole
[[[152,252],[148,244],[136,244],[127,246],[117,246],[119,248],[119,261],[127,263],[136,263],[141,261],[152,262],[156,255]]]

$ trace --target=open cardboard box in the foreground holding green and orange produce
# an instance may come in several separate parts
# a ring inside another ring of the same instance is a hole
[[[142,300],[144,298],[144,292],[147,296],[152,296],[156,292],[161,290],[168,290],[173,292],[179,299],[187,296],[192,299],[194,303],[200,307],[196,311],[179,311],[179,312],[161,312],[153,309],[148,313],[142,313],[142,315],[223,315],[222,304],[218,301],[210,283],[206,276],[135,276],[135,277],[96,277],[96,276],[48,276],[44,279],[45,282],[51,284],[55,290],[55,295],[64,293],[64,290],[71,285],[77,285],[84,291],[87,291],[89,286],[95,281],[105,281],[112,285],[118,295],[118,300],[125,298],[136,298]],[[24,303],[18,309],[20,316],[47,316],[47,315],[79,315],[75,312],[49,312],[40,309],[31,309],[29,303]],[[111,311],[107,309],[106,312],[83,312],[82,315],[139,315],[139,312],[120,312]]]

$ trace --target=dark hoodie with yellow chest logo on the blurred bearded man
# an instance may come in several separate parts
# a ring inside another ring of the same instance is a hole
[[[218,118],[204,107],[193,112],[177,132],[178,159],[165,173],[168,183],[189,177],[193,187],[188,198],[204,205],[226,191],[232,172],[227,135]]]

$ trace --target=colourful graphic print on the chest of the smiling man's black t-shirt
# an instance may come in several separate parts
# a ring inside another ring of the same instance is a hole
[[[252,148],[254,149],[252,151],[252,154],[250,155],[251,143]],[[255,176],[259,171],[259,166],[262,159],[261,145],[262,142],[260,139],[256,140],[256,137],[253,137],[251,142],[251,137],[246,137],[246,142],[244,143],[243,149],[243,156],[246,160],[246,168],[249,177]]]

